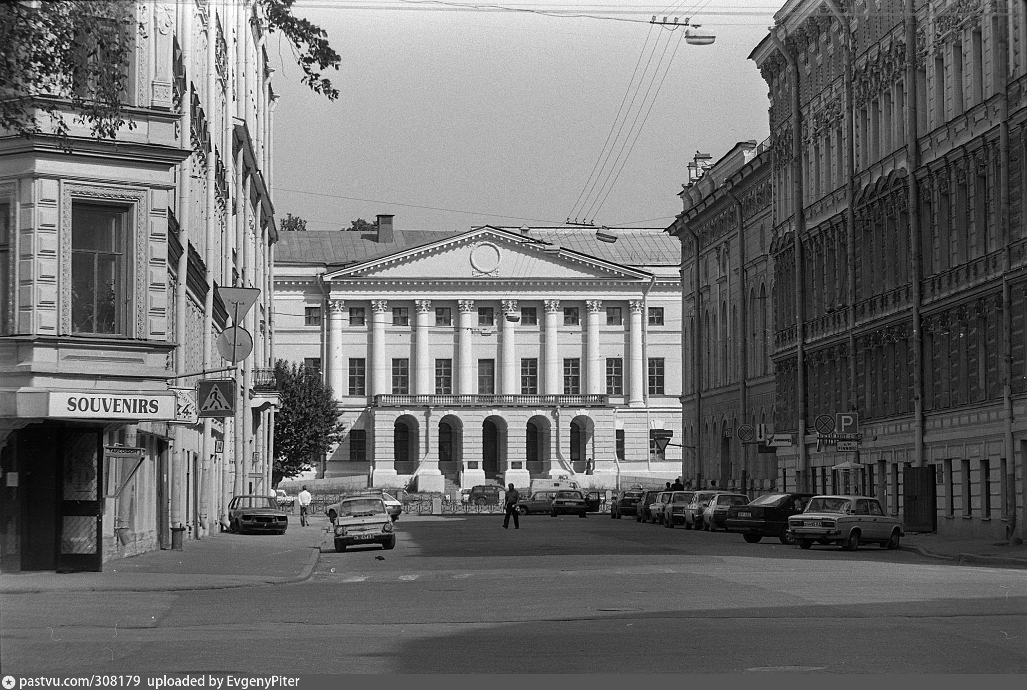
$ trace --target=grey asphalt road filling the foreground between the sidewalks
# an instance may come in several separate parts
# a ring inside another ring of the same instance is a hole
[[[589,515],[408,518],[281,586],[18,595],[4,673],[1027,672],[1027,572]],[[255,537],[260,538],[260,537]]]

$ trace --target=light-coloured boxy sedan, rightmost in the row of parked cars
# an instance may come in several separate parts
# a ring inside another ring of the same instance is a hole
[[[813,496],[804,511],[788,519],[788,529],[802,548],[835,543],[848,551],[864,542],[898,548],[905,536],[902,522],[870,496]]]

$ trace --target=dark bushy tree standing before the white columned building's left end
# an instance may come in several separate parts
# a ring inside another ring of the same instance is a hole
[[[316,370],[278,359],[274,362],[278,410],[274,415],[274,466],[271,484],[312,468],[315,458],[342,440],[343,424]]]

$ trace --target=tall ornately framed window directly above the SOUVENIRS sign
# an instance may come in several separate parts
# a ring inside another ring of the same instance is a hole
[[[127,216],[124,208],[72,204],[73,333],[125,335]]]

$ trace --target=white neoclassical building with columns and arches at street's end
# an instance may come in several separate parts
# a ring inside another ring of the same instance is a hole
[[[679,476],[680,256],[661,228],[282,232],[277,353],[322,372],[345,425],[319,475]]]

